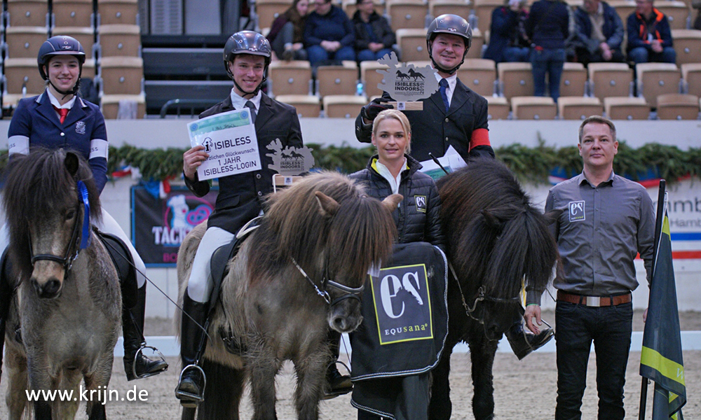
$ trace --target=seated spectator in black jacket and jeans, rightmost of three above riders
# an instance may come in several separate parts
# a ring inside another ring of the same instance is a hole
[[[372,0],[356,0],[353,15],[355,26],[355,54],[358,61],[373,61],[392,52],[397,43],[390,23],[375,11]]]

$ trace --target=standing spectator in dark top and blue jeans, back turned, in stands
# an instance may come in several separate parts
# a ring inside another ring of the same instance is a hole
[[[545,96],[545,73],[550,97],[557,102],[565,63],[565,40],[569,36],[569,11],[560,0],[539,0],[526,19],[526,34],[533,41],[531,64],[536,96]]]

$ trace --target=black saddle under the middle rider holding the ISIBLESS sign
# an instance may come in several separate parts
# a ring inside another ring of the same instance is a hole
[[[234,258],[238,253],[238,249],[241,247],[241,243],[246,239],[251,232],[258,228],[260,224],[261,216],[253,218],[251,221],[243,225],[236,236],[233,237],[231,242],[226,245],[219,246],[217,250],[212,253],[212,258],[210,258],[210,270],[212,272],[212,280],[214,285],[212,287],[212,295],[210,296],[210,302],[219,302],[219,290],[221,290],[222,281],[226,274],[229,274],[229,261]],[[211,306],[211,311],[214,311],[215,305]],[[224,340],[224,345],[229,353],[241,355],[245,353],[245,344],[240,342],[237,337],[234,337],[230,331],[226,331],[223,328],[219,329],[219,335]]]

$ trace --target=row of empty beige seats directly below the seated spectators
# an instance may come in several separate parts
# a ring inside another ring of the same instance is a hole
[[[416,67],[428,62],[411,62]],[[386,66],[377,62],[360,63],[362,92],[367,97],[382,94],[378,87],[383,82]],[[533,95],[533,76],[530,63],[500,63],[495,66],[489,59],[465,59],[458,70],[458,78],[471,90],[484,97],[528,97]],[[637,85],[634,84],[637,80]],[[354,94],[358,92],[358,69],[354,62],[345,66],[320,66],[313,83],[308,62],[274,62],[268,75],[268,93],[280,94]],[[637,66],[634,77],[625,63],[592,63],[587,69],[580,63],[565,63],[560,92],[562,96],[644,97],[653,108],[658,95],[690,93],[701,96],[701,63],[683,64],[646,63]]]

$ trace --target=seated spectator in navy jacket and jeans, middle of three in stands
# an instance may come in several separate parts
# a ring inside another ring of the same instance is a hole
[[[321,0],[304,25],[304,45],[313,67],[340,63],[344,59],[355,61],[355,29],[346,12]]]

